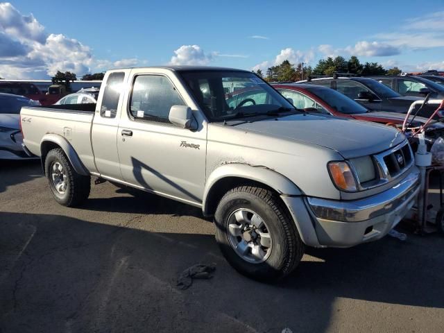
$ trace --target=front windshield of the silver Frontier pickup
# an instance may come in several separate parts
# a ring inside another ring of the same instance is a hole
[[[248,71],[182,71],[180,74],[210,121],[296,110],[264,80]]]

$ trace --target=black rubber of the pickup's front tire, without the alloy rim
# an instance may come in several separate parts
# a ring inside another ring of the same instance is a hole
[[[238,255],[230,244],[228,220],[241,209],[257,212],[266,226],[273,246],[264,262],[251,263]],[[225,259],[239,273],[263,282],[275,282],[298,266],[305,246],[296,225],[273,191],[260,187],[240,186],[228,191],[216,208],[216,241]]]

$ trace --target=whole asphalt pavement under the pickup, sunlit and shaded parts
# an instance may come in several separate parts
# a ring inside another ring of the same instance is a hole
[[[62,207],[39,162],[0,161],[0,332],[444,332],[444,237],[406,230],[308,248],[262,284],[225,262],[197,208],[109,182]]]

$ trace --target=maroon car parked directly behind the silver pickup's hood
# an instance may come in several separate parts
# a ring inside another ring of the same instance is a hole
[[[363,105],[336,92],[334,89],[320,85],[273,85],[293,105],[307,112],[321,112],[336,117],[359,119],[383,123],[384,125],[399,126],[404,121],[405,114],[397,112],[370,111]],[[442,117],[442,116],[441,116]],[[419,126],[427,121],[426,118],[416,117],[413,126]],[[441,126],[440,126],[441,127]]]

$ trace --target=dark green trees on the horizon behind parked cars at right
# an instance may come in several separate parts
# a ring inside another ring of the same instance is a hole
[[[268,67],[265,75],[262,73],[261,69],[253,71],[253,73],[270,82],[294,82],[298,80],[305,80],[308,76],[332,76],[334,73],[370,76],[398,75],[401,74],[401,72],[401,69],[398,67],[384,69],[384,67],[377,62],[366,62],[363,65],[356,56],[351,56],[348,60],[341,56],[337,56],[336,58],[328,57],[327,59],[321,59],[314,68],[309,65],[303,66],[302,63],[297,65],[291,64],[289,60],[284,60],[280,65]]]

